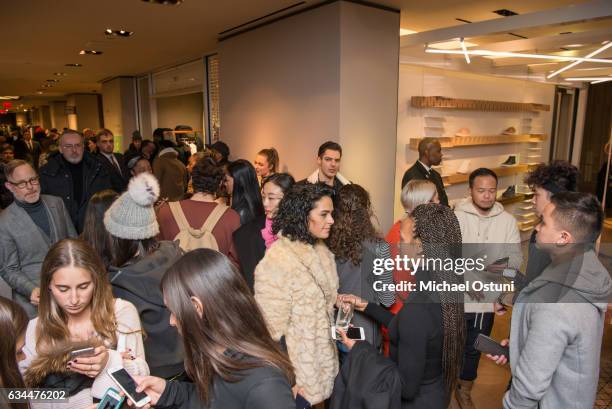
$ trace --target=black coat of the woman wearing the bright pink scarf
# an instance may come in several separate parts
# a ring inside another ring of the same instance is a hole
[[[255,220],[243,224],[234,232],[234,246],[238,253],[240,270],[251,291],[255,285],[255,267],[266,252],[266,243],[261,236],[265,227],[266,216],[259,216]]]

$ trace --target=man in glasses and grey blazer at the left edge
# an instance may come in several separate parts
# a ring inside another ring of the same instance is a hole
[[[0,277],[11,287],[13,299],[30,317],[40,300],[40,268],[57,241],[76,237],[64,202],[40,194],[40,179],[24,160],[5,165],[5,186],[15,200],[0,213]]]

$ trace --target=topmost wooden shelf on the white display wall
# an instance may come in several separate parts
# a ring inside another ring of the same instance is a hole
[[[550,111],[550,105],[525,102],[487,101],[448,97],[414,96],[410,104],[415,108],[444,108],[488,112],[537,112]]]

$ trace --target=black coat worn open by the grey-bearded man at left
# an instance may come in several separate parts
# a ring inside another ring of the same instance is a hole
[[[89,199],[104,189],[113,189],[108,169],[94,156],[83,154],[83,197],[80,203],[74,200],[72,175],[59,152],[49,155],[45,166],[40,168],[40,185],[42,193],[58,196],[70,214],[72,224],[77,232],[83,231],[85,211]]]

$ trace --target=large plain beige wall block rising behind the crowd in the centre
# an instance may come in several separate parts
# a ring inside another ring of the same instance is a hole
[[[232,158],[278,149],[296,179],[319,145],[342,145],[341,173],[392,222],[399,13],[335,2],[223,41],[221,140]]]

